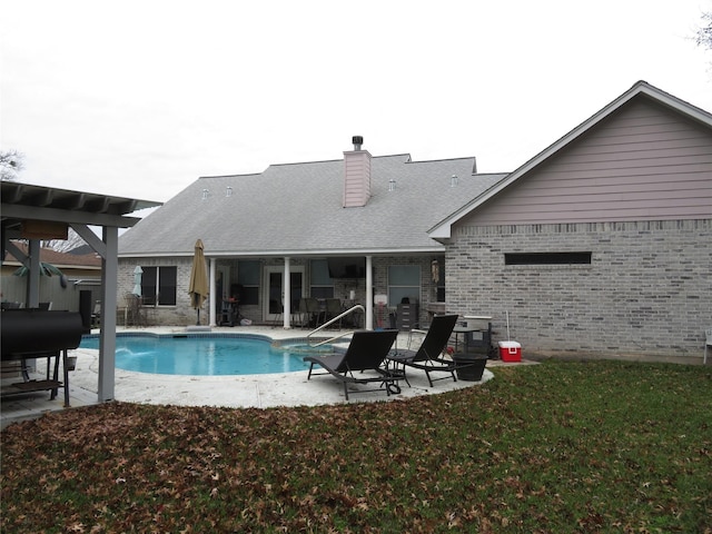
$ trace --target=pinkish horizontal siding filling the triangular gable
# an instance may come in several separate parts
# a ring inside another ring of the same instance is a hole
[[[712,218],[712,132],[645,99],[482,206],[467,224]]]

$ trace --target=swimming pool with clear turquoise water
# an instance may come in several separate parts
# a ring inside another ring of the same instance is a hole
[[[98,336],[85,336],[79,348],[99,348]],[[264,336],[117,335],[116,367],[157,375],[261,375],[306,370],[308,350],[300,340],[273,343]]]

